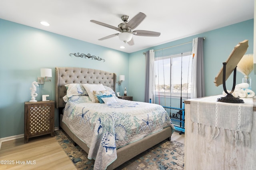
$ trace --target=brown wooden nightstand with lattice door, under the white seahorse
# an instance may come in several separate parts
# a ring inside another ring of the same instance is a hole
[[[54,136],[54,101],[25,102],[24,142],[44,134]]]

